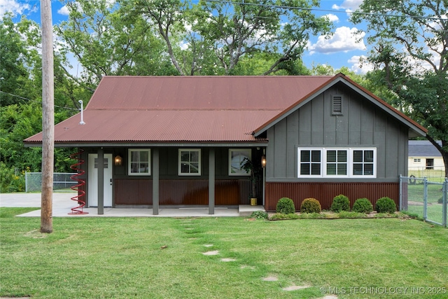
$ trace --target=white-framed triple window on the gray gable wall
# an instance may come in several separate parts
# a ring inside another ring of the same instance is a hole
[[[297,148],[298,177],[376,177],[376,148]]]

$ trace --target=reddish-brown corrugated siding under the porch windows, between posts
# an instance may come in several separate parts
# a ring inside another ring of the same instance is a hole
[[[153,181],[148,179],[116,179],[115,204],[153,204]],[[247,180],[216,180],[215,204],[248,204]],[[160,180],[160,205],[208,205],[208,180]]]

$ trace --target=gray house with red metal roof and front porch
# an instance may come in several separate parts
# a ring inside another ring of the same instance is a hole
[[[258,204],[296,209],[315,197],[398,202],[409,137],[426,129],[343,74],[106,76],[83,111],[55,126],[55,146],[82,148],[89,207],[238,206],[261,165]],[[42,134],[25,140],[41,146]]]

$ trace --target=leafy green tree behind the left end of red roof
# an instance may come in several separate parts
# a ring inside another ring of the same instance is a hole
[[[102,76],[173,74],[164,44],[141,15],[108,0],[66,1],[66,6],[69,18],[56,32],[65,53],[73,53],[82,66],[80,78],[69,74],[72,66],[64,67],[76,83],[93,92]]]

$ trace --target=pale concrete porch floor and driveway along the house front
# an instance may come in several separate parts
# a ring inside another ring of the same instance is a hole
[[[253,211],[264,211],[262,206],[241,204],[238,209],[216,207],[215,214],[209,214],[208,207],[165,209],[159,208],[159,214],[153,215],[153,209],[104,208],[104,214],[99,215],[97,208],[86,208],[88,214],[69,215],[76,202],[71,197],[76,193],[53,193],[53,217],[234,217],[248,216]],[[41,207],[41,193],[2,193],[0,207]],[[20,217],[40,217],[41,210],[31,211]]]

